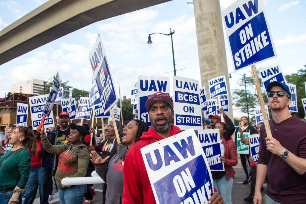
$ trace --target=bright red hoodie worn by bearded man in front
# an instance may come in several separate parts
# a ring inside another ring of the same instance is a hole
[[[180,132],[180,128],[171,125],[169,136]],[[151,126],[129,149],[123,165],[123,204],[156,203],[140,149],[162,139]]]

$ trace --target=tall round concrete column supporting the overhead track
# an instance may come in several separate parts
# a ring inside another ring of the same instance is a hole
[[[226,52],[222,28],[219,0],[193,0],[198,42],[200,74],[202,86],[205,86],[206,97],[210,99],[208,80],[225,75],[227,88],[230,90],[227,70]],[[229,113],[233,119],[232,99],[229,91]]]

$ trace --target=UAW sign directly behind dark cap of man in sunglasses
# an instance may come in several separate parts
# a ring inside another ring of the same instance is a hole
[[[282,72],[281,65],[274,64],[271,66],[267,66],[261,70],[259,70],[259,75],[261,80],[263,81],[263,85],[266,88],[267,91],[267,86],[272,82],[272,81],[278,81],[284,84],[287,84],[285,76]]]

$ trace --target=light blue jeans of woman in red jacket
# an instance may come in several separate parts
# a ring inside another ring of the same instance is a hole
[[[213,179],[214,187],[223,197],[224,204],[232,204],[233,177],[226,179],[226,174],[221,179]]]

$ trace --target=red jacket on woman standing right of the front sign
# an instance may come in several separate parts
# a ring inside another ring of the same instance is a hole
[[[233,140],[226,139],[223,139],[221,143],[224,145],[224,169],[226,179],[230,179],[235,175],[233,166],[236,166],[238,163],[236,143]]]

